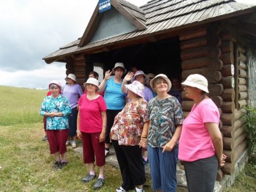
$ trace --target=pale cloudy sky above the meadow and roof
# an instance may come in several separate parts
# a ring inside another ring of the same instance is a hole
[[[141,6],[150,0],[128,0]],[[0,0],[0,85],[65,84],[65,63],[43,57],[84,34],[98,0]],[[254,3],[255,0],[240,0]]]

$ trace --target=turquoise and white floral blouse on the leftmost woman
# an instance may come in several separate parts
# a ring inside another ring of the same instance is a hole
[[[53,98],[51,95],[44,98],[40,108],[40,114],[44,115],[48,112],[62,112],[63,116],[47,116],[46,129],[47,130],[65,130],[68,128],[68,115],[71,114],[71,107],[67,97],[60,95]]]

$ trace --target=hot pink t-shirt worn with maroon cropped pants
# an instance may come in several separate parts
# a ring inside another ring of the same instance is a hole
[[[102,131],[101,112],[106,111],[106,103],[102,95],[96,99],[89,100],[87,94],[79,99],[80,127],[84,133],[97,133]]]

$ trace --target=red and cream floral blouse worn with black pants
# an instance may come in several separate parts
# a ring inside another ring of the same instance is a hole
[[[119,145],[138,145],[147,116],[147,102],[143,98],[127,103],[115,116],[111,139],[118,140]]]

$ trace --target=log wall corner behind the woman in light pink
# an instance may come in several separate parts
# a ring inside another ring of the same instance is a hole
[[[208,80],[209,97],[220,110],[220,130],[223,135],[224,153],[228,156],[225,166],[218,170],[217,180],[223,174],[234,173],[234,162],[245,149],[247,141],[243,130],[246,112],[246,52],[236,44],[230,32],[221,32],[212,24],[180,34],[182,78],[202,74]],[[189,34],[189,36],[186,36]],[[182,94],[184,116],[189,114],[193,101]]]

